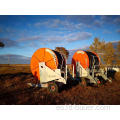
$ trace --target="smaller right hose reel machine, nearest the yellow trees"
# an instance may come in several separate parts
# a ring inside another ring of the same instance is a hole
[[[76,80],[81,79],[83,84],[98,85],[101,79],[112,82],[107,77],[107,71],[100,68],[100,58],[94,52],[76,51],[72,58],[72,64],[75,68]]]

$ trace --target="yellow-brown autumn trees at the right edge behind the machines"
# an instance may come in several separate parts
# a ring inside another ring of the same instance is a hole
[[[106,43],[96,37],[90,45],[89,51],[97,53],[106,65],[120,65],[120,41],[118,41],[117,47],[114,48],[111,42]]]

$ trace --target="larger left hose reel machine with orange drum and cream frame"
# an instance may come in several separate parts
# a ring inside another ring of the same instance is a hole
[[[40,87],[48,87],[49,91],[54,92],[58,89],[57,83],[66,84],[66,59],[59,52],[40,48],[33,54],[30,66],[33,76],[39,80]]]

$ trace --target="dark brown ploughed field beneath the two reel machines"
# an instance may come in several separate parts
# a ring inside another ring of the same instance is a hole
[[[5,67],[6,66],[6,67]],[[29,65],[0,66],[1,105],[120,105],[120,73],[114,74],[112,83],[99,87],[82,87],[68,79],[58,93],[50,94],[47,88],[32,88],[27,85],[34,81]]]

